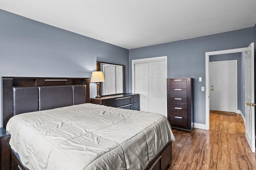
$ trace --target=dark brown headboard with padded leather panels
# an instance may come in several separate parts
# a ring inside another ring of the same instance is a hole
[[[17,114],[90,103],[90,78],[2,77],[4,128]]]

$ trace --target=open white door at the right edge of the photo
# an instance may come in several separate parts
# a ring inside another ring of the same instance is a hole
[[[255,153],[254,43],[245,52],[245,135]]]

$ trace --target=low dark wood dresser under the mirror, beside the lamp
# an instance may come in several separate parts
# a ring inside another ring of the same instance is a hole
[[[140,110],[139,94],[125,93],[91,98],[90,103],[123,109]]]

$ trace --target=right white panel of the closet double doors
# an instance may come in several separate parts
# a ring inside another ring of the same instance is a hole
[[[148,100],[149,111],[165,115],[165,63],[148,63]]]

